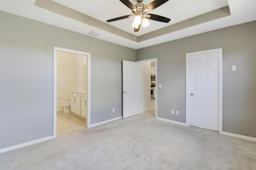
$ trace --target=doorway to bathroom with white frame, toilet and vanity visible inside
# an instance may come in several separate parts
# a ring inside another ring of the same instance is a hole
[[[90,53],[54,47],[53,113],[54,137],[90,125]]]

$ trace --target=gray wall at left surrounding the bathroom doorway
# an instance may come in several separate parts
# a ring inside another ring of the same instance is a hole
[[[0,149],[53,135],[54,46],[91,53],[91,124],[122,116],[121,61],[136,61],[134,49],[5,12],[0,21]]]

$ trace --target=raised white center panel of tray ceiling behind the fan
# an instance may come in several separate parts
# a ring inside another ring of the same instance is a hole
[[[95,0],[92,0],[91,2],[84,0],[53,1],[58,2],[64,6],[68,6],[69,8],[82,12],[105,23],[107,23],[106,20],[132,14],[132,10],[130,10],[119,0],[102,0],[100,2],[100,6],[99,1]],[[143,0],[142,3],[147,5],[152,1],[153,0]],[[133,4],[137,4],[136,0],[130,0],[130,2],[132,2]],[[90,5],[88,6],[88,4]],[[191,6],[193,6],[193,4],[194,7],[190,8]],[[173,23],[177,23],[179,21],[183,21],[212,10],[216,10],[224,6],[228,6],[228,0],[169,0],[162,6],[159,6],[158,8],[148,13],[170,18],[171,21],[169,23],[162,23],[154,20],[149,20],[150,26],[146,28],[141,27],[140,31],[138,31],[136,35],[143,35],[156,29],[166,27]],[[113,21],[109,24],[126,32],[133,33],[135,35],[134,29],[132,27],[133,20],[134,18],[127,18],[123,20]]]

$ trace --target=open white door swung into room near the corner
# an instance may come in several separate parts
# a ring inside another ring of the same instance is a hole
[[[139,63],[122,61],[123,118],[139,113]]]

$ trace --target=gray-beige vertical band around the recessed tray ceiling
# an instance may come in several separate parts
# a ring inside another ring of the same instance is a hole
[[[104,23],[102,21],[96,20],[95,18],[92,18],[90,16],[87,16],[86,14],[83,14],[81,12],[78,12],[76,10],[73,10],[71,8],[68,8],[62,4],[59,4],[57,2],[54,2],[52,0],[36,0],[34,3],[35,6],[38,6],[40,8],[43,8],[45,10],[49,10],[51,12],[54,12],[56,14],[65,16],[67,18],[71,18],[73,20],[85,23],[87,25],[91,25],[93,27],[96,27],[100,30],[107,31],[109,33],[112,33],[114,35],[118,35],[120,37],[123,37],[125,39],[129,39],[134,42],[142,42],[146,41],[148,39],[152,39],[155,37],[159,37],[162,35],[166,35],[168,33],[172,33],[181,29],[185,29],[188,27],[192,27],[194,25],[198,25],[201,23],[205,23],[208,21],[216,20],[219,18],[223,18],[226,16],[230,16],[230,9],[229,6],[219,8],[217,10],[213,10],[211,12],[207,12],[205,14],[190,18],[188,20],[184,20],[178,23],[174,23],[172,25],[169,25],[167,27],[152,31],[150,33],[146,33],[144,35],[135,36],[131,33],[128,33],[126,31],[123,31],[121,29],[118,29],[116,27],[113,27],[112,25],[109,25],[107,23]]]

